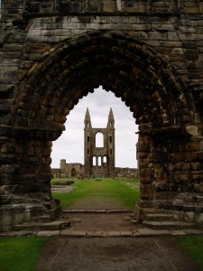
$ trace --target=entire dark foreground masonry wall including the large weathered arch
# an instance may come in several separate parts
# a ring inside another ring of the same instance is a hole
[[[1,5],[0,230],[60,215],[51,143],[98,86],[121,98],[139,125],[140,213],[202,224],[203,2]]]

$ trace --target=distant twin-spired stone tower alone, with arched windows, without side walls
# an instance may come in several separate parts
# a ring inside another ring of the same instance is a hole
[[[97,146],[97,136],[102,145]],[[113,176],[115,173],[115,118],[110,108],[106,128],[93,128],[87,108],[84,128],[85,175]]]

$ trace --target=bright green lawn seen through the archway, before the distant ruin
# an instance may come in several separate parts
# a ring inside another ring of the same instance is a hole
[[[70,193],[52,192],[55,199],[60,200],[62,209],[65,209],[78,200],[85,199],[89,196],[92,198],[108,198],[121,201],[126,207],[134,208],[134,204],[140,198],[139,189],[129,185],[126,181],[119,181],[111,178],[103,178],[102,181],[80,180],[75,181],[75,189]],[[134,179],[132,182],[138,183]]]

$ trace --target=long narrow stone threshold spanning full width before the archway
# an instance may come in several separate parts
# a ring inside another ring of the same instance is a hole
[[[21,236],[46,236],[46,237],[76,237],[76,238],[142,238],[142,237],[160,237],[160,236],[199,236],[203,235],[203,230],[199,229],[181,229],[181,230],[166,230],[166,229],[147,229],[141,228],[134,231],[107,231],[107,230],[42,230],[42,231],[12,231],[1,233],[1,237],[21,237]]]

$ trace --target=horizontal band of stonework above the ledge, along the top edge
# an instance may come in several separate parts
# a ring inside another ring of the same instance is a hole
[[[50,1],[2,1],[2,14],[11,16],[36,16],[37,14],[66,14],[66,13],[131,13],[131,14],[199,14],[203,13],[203,4],[191,0],[164,0],[164,1],[124,1],[124,0],[50,0]]]

